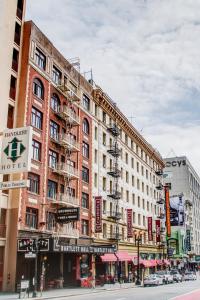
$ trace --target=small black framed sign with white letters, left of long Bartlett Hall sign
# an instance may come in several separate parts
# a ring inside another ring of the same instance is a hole
[[[49,251],[49,239],[22,238],[18,240],[19,252]]]

